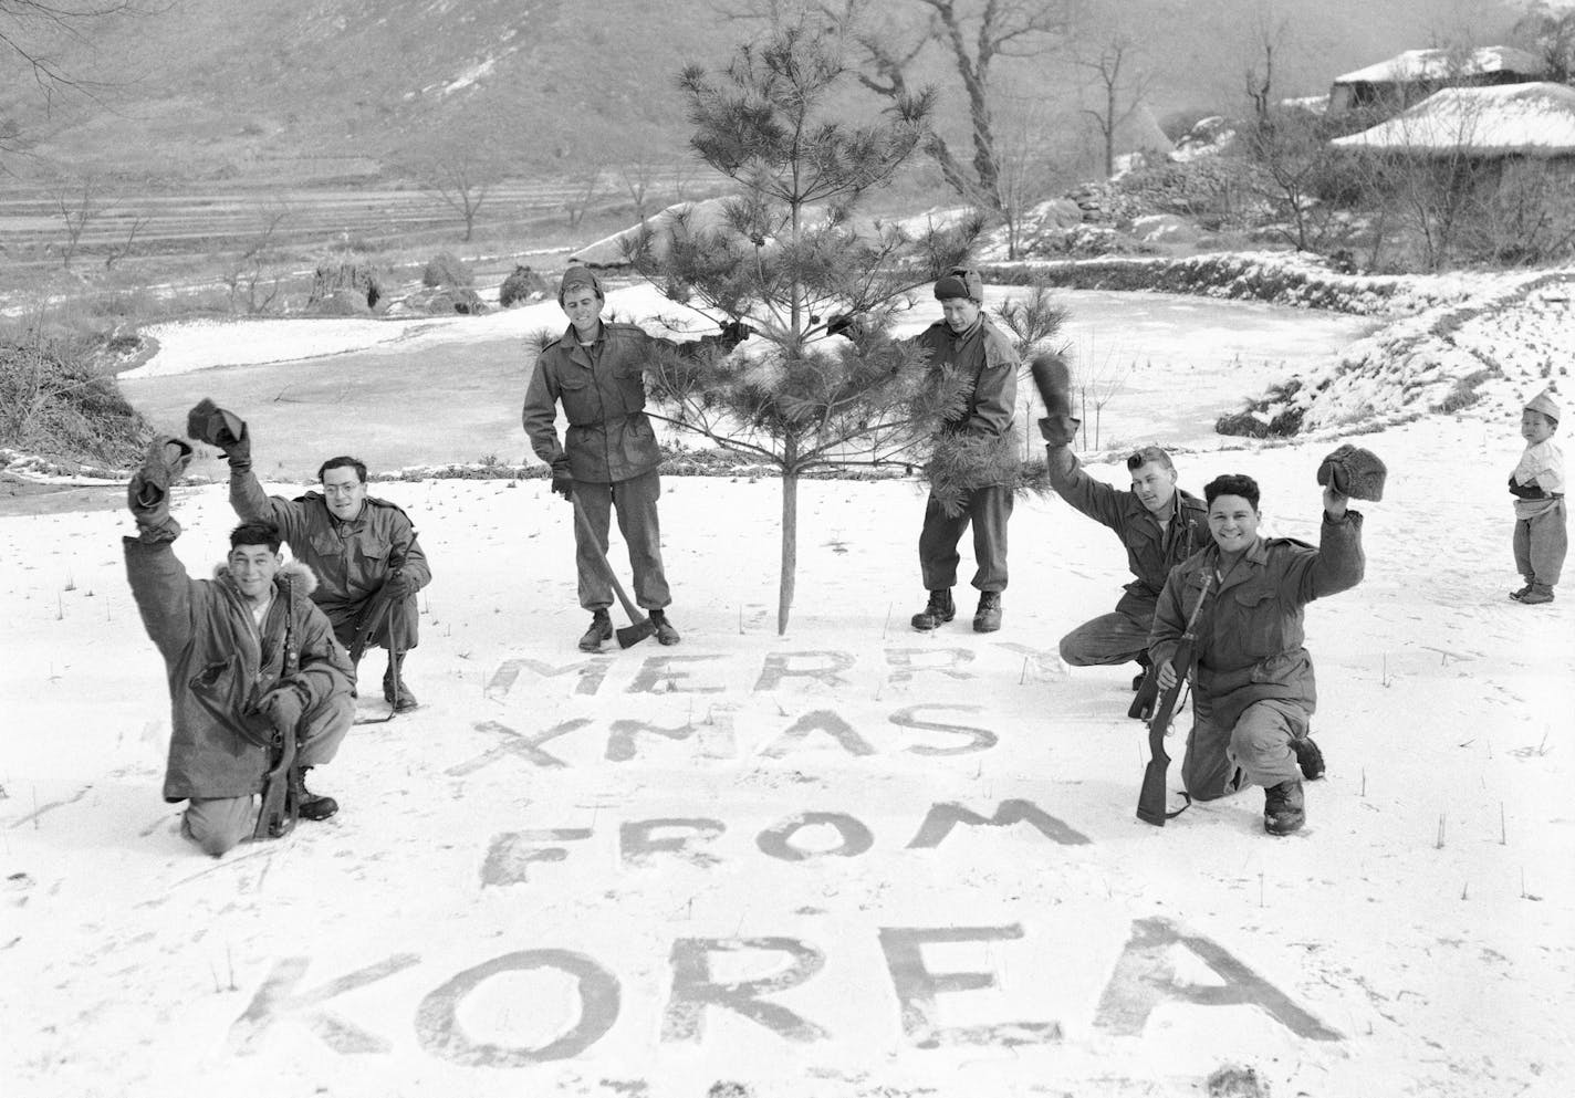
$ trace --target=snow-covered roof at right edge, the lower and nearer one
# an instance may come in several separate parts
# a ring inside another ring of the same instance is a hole
[[[1562,83],[1444,88],[1372,129],[1332,143],[1413,153],[1575,156],[1575,88]]]

